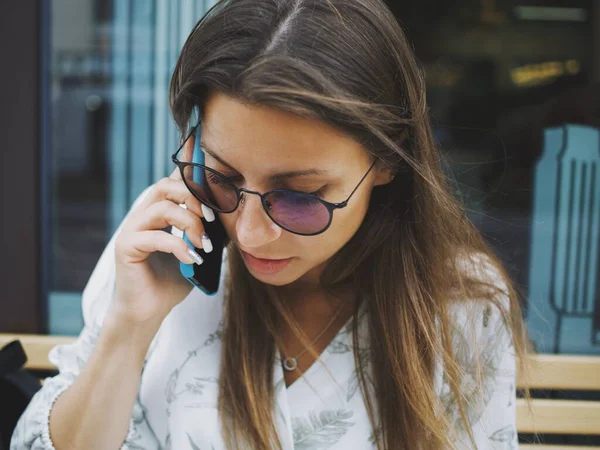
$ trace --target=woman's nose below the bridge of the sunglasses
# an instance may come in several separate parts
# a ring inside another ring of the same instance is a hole
[[[240,199],[235,226],[238,242],[244,248],[263,247],[281,235],[281,228],[267,215],[260,197],[245,192]]]

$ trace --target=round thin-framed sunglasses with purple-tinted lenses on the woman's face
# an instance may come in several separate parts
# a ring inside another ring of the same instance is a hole
[[[204,164],[177,159],[177,155],[199,125],[192,128],[179,149],[171,156],[192,195],[209,208],[225,214],[234,212],[240,204],[243,204],[245,195],[258,195],[265,212],[277,226],[300,236],[315,236],[326,231],[333,220],[333,212],[348,206],[352,195],[375,166],[373,162],[348,198],[340,203],[330,203],[313,194],[291,189],[275,189],[260,193],[238,188],[230,178]],[[194,147],[196,152],[200,149],[199,143]]]

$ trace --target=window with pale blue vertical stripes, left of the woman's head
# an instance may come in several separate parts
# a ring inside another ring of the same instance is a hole
[[[77,334],[81,292],[133,200],[170,172],[168,84],[211,6],[197,0],[53,0],[42,218],[49,330]]]

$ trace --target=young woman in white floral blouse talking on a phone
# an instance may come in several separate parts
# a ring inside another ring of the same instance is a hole
[[[516,295],[450,194],[384,3],[221,2],[170,100],[179,161],[200,148],[221,203],[178,168],[136,201],[12,449],[517,448]],[[165,232],[206,253],[201,218],[230,239],[216,296]]]

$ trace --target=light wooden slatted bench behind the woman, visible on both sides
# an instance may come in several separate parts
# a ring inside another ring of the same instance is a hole
[[[19,339],[29,358],[27,369],[53,370],[48,352],[57,344],[75,340],[66,336],[0,334],[0,347]],[[530,389],[600,391],[600,357],[572,355],[531,355],[526,377],[519,387]],[[520,433],[600,436],[600,401],[517,399],[517,427]],[[521,444],[528,450],[589,450],[592,447]],[[594,447],[600,449],[600,447]]]

